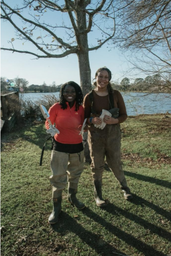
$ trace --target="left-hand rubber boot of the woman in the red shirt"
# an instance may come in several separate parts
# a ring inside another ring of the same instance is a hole
[[[62,209],[61,202],[62,202],[62,195],[57,198],[53,198],[53,211],[50,217],[48,218],[48,223],[54,224],[58,221],[59,214]]]

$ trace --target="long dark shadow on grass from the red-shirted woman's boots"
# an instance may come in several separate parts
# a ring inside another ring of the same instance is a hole
[[[92,214],[94,214],[89,209],[85,208],[84,212],[87,216],[92,218]],[[97,215],[98,216],[98,215]],[[67,220],[67,221],[66,221]],[[52,229],[56,232],[61,233],[62,235],[66,233],[66,231],[70,231],[77,235],[82,242],[86,243],[89,247],[95,250],[98,255],[113,255],[113,253],[117,252],[121,255],[124,255],[120,251],[118,251],[114,246],[109,243],[102,241],[101,235],[96,235],[91,231],[86,230],[84,227],[79,225],[79,223],[70,217],[65,212],[61,212],[60,214],[60,223],[56,223],[55,225],[51,225]]]

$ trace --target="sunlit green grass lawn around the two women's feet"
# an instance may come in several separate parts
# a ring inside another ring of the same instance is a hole
[[[108,168],[103,174],[106,209],[93,198],[91,169],[85,164],[78,198],[82,211],[63,191],[59,223],[49,225],[52,211],[48,135],[43,123],[1,137],[1,254],[167,255],[171,253],[171,116],[129,117],[121,125],[123,167],[133,200],[127,202]]]

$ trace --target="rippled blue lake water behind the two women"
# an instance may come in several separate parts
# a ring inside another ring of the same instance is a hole
[[[45,95],[54,94],[59,98],[59,92],[54,93],[23,93],[23,99],[31,99],[36,101],[43,99]],[[140,114],[165,114],[167,111],[171,113],[171,94],[169,93],[152,93],[146,94],[142,92],[121,92],[123,95],[128,116]],[[21,94],[20,94],[21,97]]]

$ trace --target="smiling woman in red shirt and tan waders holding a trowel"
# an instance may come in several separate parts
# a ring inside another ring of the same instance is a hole
[[[79,127],[84,122],[83,93],[75,82],[63,84],[60,90],[60,101],[55,103],[48,113],[50,121],[60,131],[54,136],[51,155],[50,182],[53,186],[53,211],[48,222],[58,221],[61,211],[62,190],[68,181],[68,202],[81,210],[85,205],[78,201],[76,194],[78,181],[83,172],[84,147]],[[46,121],[46,129],[49,124]]]

